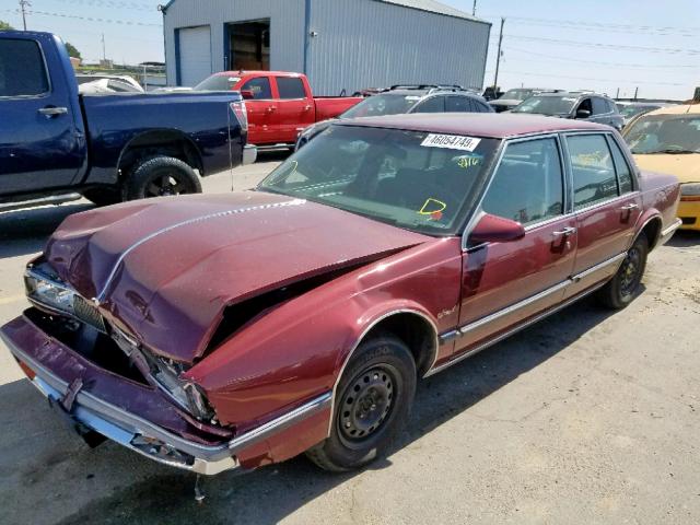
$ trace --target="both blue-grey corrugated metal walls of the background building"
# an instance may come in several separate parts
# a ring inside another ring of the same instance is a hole
[[[175,30],[211,26],[214,71],[224,68],[224,24],[271,19],[270,67],[304,70],[305,5],[311,5],[307,74],[317,94],[396,83],[480,89],[491,26],[375,0],[176,0],[164,16],[168,84],[176,80]]]

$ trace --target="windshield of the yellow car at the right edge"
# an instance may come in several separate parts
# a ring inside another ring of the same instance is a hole
[[[700,115],[646,115],[625,132],[632,153],[700,153]]]

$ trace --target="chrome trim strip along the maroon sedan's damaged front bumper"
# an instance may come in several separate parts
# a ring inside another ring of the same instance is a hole
[[[8,345],[14,357],[34,371],[36,374],[36,377],[32,381],[34,386],[47,398],[56,401],[62,399],[68,392],[68,383],[28,357],[16,345],[3,337],[2,332],[0,332],[0,337]],[[238,467],[235,455],[245,448],[305,420],[325,408],[329,408],[330,399],[331,393],[326,392],[260,427],[215,446],[188,441],[86,392],[78,393],[73,402],[74,408],[70,416],[77,422],[150,459],[197,474],[214,475]],[[140,436],[158,440],[158,442],[179,454],[191,456],[191,462],[171,460],[139,448],[132,442]]]

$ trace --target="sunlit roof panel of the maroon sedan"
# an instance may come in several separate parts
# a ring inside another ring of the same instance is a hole
[[[505,139],[558,131],[610,131],[609,126],[539,115],[492,113],[421,113],[361,117],[342,120],[340,126],[409,129],[432,133]]]

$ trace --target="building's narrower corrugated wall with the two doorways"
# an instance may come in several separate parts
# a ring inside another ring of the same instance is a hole
[[[167,83],[175,85],[175,30],[211,26],[211,58],[224,69],[224,24],[270,19],[270,67],[282,71],[304,68],[304,0],[176,0],[163,18]]]

